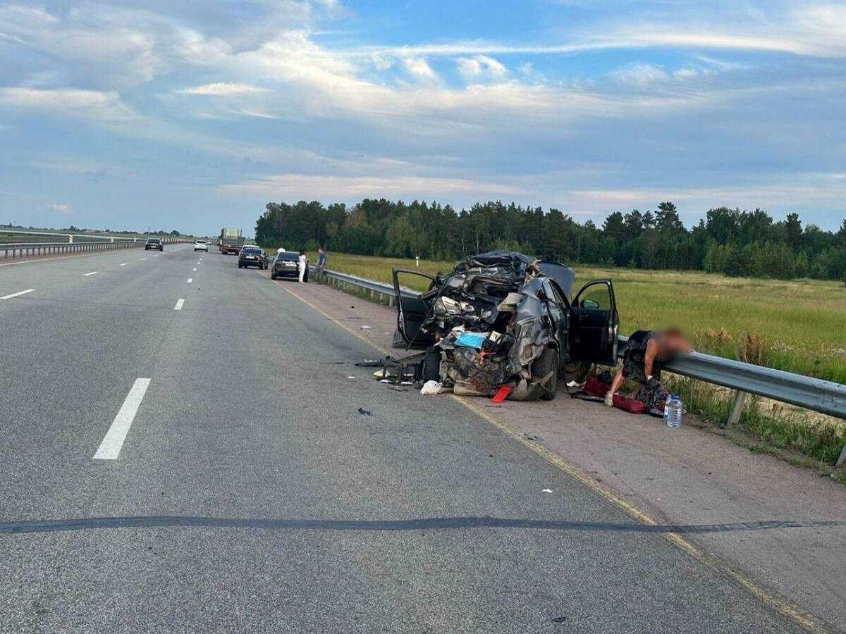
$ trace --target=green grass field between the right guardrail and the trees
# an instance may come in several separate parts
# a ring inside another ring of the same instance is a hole
[[[316,254],[309,257],[316,261]],[[447,272],[454,264],[420,260],[419,271]],[[415,269],[415,260],[332,253],[327,267],[390,282],[393,267]],[[624,335],[678,325],[700,352],[846,383],[846,288],[837,282],[584,266],[574,270],[574,292],[597,278],[613,281]],[[422,284],[421,278],[419,290]]]

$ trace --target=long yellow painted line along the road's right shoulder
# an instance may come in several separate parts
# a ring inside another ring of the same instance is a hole
[[[310,303],[307,299],[299,295],[298,292],[294,292],[290,288],[285,287],[283,286],[283,284],[279,284],[278,282],[277,285],[280,288],[283,288],[286,292],[293,295],[295,298],[299,299],[300,302],[305,303],[305,305],[308,306],[310,309],[314,309],[318,313],[322,314],[324,317],[327,318],[327,320],[331,321],[333,324],[338,325],[339,327],[343,328],[343,330],[358,337],[368,346],[378,350],[382,354],[388,353],[387,349],[376,346],[375,343],[371,342],[360,332],[354,331],[353,329],[349,328],[349,326],[336,320],[334,317],[332,317],[332,315],[327,314],[323,310],[317,308],[313,303]],[[451,394],[449,396],[451,396],[454,401],[461,403],[464,407],[467,407],[471,412],[475,413],[487,423],[492,424],[494,427],[502,431],[503,434],[507,435],[508,438],[510,438],[511,440],[516,440],[517,442],[519,442],[520,445],[525,446],[527,449],[529,449],[536,455],[541,456],[544,460],[552,464],[554,467],[558,467],[558,469],[563,471],[563,473],[569,475],[570,478],[573,478],[577,482],[584,484],[588,489],[591,489],[591,491],[593,491],[597,495],[602,496],[602,498],[611,502],[614,506],[618,506],[627,515],[634,518],[634,520],[636,520],[637,522],[649,526],[656,526],[659,523],[649,513],[643,511],[638,506],[634,505],[634,503],[630,500],[626,500],[624,497],[618,495],[612,489],[609,489],[607,486],[600,484],[596,481],[596,478],[592,478],[589,473],[585,473],[579,467],[576,467],[563,456],[559,456],[554,451],[550,451],[546,447],[538,445],[532,440],[528,440],[522,435],[522,433],[518,429],[514,429],[513,427],[511,427],[511,425],[503,423],[503,421],[499,420],[498,418],[494,418],[493,416],[491,416],[491,414],[485,412],[483,409],[481,409],[481,407],[478,407],[474,403],[467,401],[464,397],[455,396],[454,394]],[[829,634],[832,631],[825,623],[817,619],[816,616],[810,614],[810,612],[806,612],[804,609],[801,609],[799,608],[799,606],[792,604],[787,599],[781,598],[776,593],[772,593],[769,590],[766,590],[766,588],[761,588],[761,586],[752,581],[749,577],[746,577],[743,572],[735,570],[733,566],[730,566],[728,563],[718,559],[714,555],[709,555],[706,552],[703,552],[678,533],[659,534],[662,538],[667,539],[667,541],[670,544],[673,544],[673,546],[675,546],[676,548],[684,550],[685,553],[693,557],[695,560],[700,561],[700,563],[704,564],[705,566],[708,566],[709,568],[711,568],[711,570],[717,571],[724,577],[728,577],[733,582],[737,583],[741,588],[744,588],[746,591],[755,596],[755,598],[758,598],[761,603],[765,604],[766,606],[772,609],[775,609],[779,614],[788,617],[788,619],[793,620],[797,625],[799,625],[806,631],[810,631],[812,632],[812,634]]]

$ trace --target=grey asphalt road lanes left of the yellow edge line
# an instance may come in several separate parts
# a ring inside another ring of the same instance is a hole
[[[0,631],[799,631],[286,283],[0,267]]]

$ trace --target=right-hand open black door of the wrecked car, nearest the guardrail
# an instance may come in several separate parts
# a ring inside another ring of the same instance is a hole
[[[619,316],[610,280],[585,284],[570,308],[570,357],[577,361],[617,363]]]

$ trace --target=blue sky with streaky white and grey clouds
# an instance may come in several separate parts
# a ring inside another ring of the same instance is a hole
[[[846,2],[0,0],[0,222],[266,202],[846,217]]]

